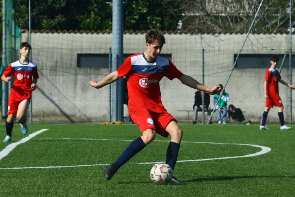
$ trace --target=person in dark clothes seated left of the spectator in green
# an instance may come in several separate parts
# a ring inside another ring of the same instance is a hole
[[[193,124],[197,123],[198,111],[203,110],[203,104],[202,104],[203,94],[204,94],[204,110],[207,111],[208,119],[211,116],[211,109],[209,107],[209,105],[210,105],[210,95],[208,93],[204,93],[204,92],[198,90],[198,91],[195,92],[195,103],[194,103],[194,106],[193,106],[193,109],[194,109]],[[209,124],[212,124],[212,122],[210,121]]]

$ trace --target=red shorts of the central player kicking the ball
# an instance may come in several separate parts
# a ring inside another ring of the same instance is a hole
[[[147,129],[154,129],[159,135],[163,137],[168,137],[169,135],[169,133],[165,130],[167,125],[171,121],[176,121],[175,118],[167,111],[156,113],[145,108],[136,110],[131,115],[131,119],[135,124],[138,125],[142,132],[146,131]]]

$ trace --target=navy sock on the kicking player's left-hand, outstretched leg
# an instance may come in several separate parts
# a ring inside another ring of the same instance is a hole
[[[130,160],[136,153],[145,148],[146,144],[143,142],[142,138],[139,137],[129,144],[129,146],[124,150],[120,157],[114,162],[118,168]]]

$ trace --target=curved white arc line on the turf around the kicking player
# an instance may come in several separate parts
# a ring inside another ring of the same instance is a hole
[[[29,136],[28,136],[29,137]],[[88,139],[88,138],[43,138],[43,139],[57,139],[57,140],[99,140],[99,141],[133,141],[127,139]],[[169,142],[164,140],[154,140],[156,142]],[[263,155],[271,151],[271,148],[266,146],[260,146],[255,144],[236,144],[236,143],[217,143],[217,142],[189,142],[182,141],[181,143],[199,143],[199,144],[221,144],[221,145],[240,145],[240,146],[252,146],[256,148],[260,148],[261,151],[242,155],[242,156],[232,156],[232,157],[219,157],[219,158],[205,158],[205,159],[195,159],[195,160],[178,160],[177,162],[200,162],[200,161],[208,161],[208,160],[224,160],[224,159],[234,159],[234,158],[245,158],[245,157],[255,157],[259,155]],[[125,165],[140,165],[140,164],[157,164],[157,163],[165,163],[165,161],[161,162],[142,162],[142,163],[126,163]],[[68,166],[44,166],[44,167],[12,167],[12,168],[0,168],[0,170],[8,170],[8,169],[49,169],[49,168],[70,168],[70,167],[92,167],[92,166],[105,166],[109,164],[91,164],[91,165],[68,165]]]

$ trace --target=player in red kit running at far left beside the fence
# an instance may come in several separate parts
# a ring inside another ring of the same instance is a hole
[[[36,63],[29,60],[31,46],[23,42],[20,46],[21,58],[11,63],[3,72],[2,81],[11,81],[11,75],[14,76],[14,82],[8,99],[8,117],[6,120],[6,137],[3,142],[11,141],[13,121],[16,117],[21,125],[21,131],[27,134],[26,113],[29,106],[31,92],[35,90],[39,78]]]

